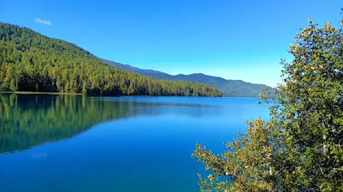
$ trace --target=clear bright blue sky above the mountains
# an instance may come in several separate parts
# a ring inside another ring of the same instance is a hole
[[[94,55],[172,75],[203,73],[275,86],[307,18],[339,26],[343,1],[13,1],[0,21]]]

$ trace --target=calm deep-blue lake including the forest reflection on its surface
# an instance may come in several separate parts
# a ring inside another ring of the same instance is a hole
[[[199,191],[196,142],[224,151],[257,101],[0,94],[0,191]]]

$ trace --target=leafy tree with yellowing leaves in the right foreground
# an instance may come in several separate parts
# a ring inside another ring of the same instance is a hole
[[[285,84],[260,95],[270,121],[247,121],[222,154],[197,143],[192,156],[212,172],[201,191],[343,191],[343,31],[309,19],[295,40]]]

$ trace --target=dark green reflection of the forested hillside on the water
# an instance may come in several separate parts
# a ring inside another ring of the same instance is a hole
[[[136,114],[134,106],[73,95],[0,94],[0,153],[73,137],[96,123]]]

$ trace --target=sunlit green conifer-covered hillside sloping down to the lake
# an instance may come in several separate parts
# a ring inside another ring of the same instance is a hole
[[[75,44],[2,22],[0,91],[223,96],[204,83],[157,80],[110,66]]]

